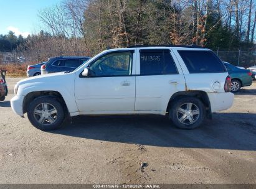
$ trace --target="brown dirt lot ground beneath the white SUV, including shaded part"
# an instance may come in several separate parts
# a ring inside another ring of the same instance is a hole
[[[0,183],[256,183],[256,83],[193,131],[162,116],[80,116],[42,132],[12,112],[13,95],[0,102]]]

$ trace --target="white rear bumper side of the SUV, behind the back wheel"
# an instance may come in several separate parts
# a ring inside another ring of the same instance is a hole
[[[234,102],[233,93],[207,93],[211,103],[212,113],[231,108]]]

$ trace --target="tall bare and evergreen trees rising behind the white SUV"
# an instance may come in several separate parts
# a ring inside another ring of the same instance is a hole
[[[161,44],[255,48],[252,0],[64,0],[38,16],[43,30],[12,47],[90,52]]]

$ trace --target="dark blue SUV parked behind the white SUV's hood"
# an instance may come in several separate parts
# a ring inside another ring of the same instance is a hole
[[[89,60],[90,57],[54,57],[41,66],[41,74],[73,71]]]

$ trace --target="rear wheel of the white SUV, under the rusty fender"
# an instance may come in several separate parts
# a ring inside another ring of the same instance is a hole
[[[192,104],[190,111],[187,110],[187,104],[189,103]],[[179,108],[186,111],[186,113],[181,113]],[[199,114],[196,114],[197,110],[199,111]],[[174,125],[179,129],[195,129],[196,127],[199,127],[202,124],[205,117],[206,117],[206,107],[198,98],[193,98],[193,97],[180,98],[177,101],[175,101],[173,104],[171,104],[171,108],[169,108],[169,119],[171,119]],[[179,121],[179,119],[182,119],[182,118],[184,119],[184,122]],[[191,122],[191,120],[194,122]]]

